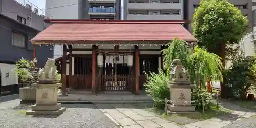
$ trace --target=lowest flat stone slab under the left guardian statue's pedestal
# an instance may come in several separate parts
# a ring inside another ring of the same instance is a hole
[[[56,111],[27,111],[26,115],[61,115],[66,110],[66,108],[61,107]]]

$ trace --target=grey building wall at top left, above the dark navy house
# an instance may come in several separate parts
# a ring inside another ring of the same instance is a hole
[[[17,20],[17,16],[23,17],[26,19],[26,25],[40,31],[44,30],[44,17],[14,0],[0,0],[0,13],[14,20]]]

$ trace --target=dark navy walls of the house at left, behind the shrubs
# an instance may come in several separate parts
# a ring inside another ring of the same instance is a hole
[[[12,43],[12,32],[22,33],[27,36],[27,48],[19,48],[11,45]],[[5,16],[0,16],[0,60],[15,62],[24,57],[25,59],[33,59],[33,46],[29,41],[33,38],[39,31],[26,26],[16,20],[10,19]],[[42,67],[45,65],[47,58],[53,57],[53,51],[50,50],[52,46],[42,46],[37,47],[37,60],[38,66]]]

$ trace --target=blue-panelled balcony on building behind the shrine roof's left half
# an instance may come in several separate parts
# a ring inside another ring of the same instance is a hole
[[[89,8],[89,15],[116,15],[115,8]]]

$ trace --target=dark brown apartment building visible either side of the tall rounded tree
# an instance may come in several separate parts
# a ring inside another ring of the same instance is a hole
[[[230,3],[233,3],[234,6],[239,8],[243,15],[245,15],[248,20],[248,31],[251,32],[253,30],[253,16],[252,16],[252,1],[251,0],[229,0]],[[200,0],[185,0],[184,5],[185,7],[185,15],[184,19],[189,20],[191,22],[193,18],[193,14],[195,12],[195,9],[199,6]],[[193,32],[191,28],[191,24],[187,26],[187,29],[190,32]]]

